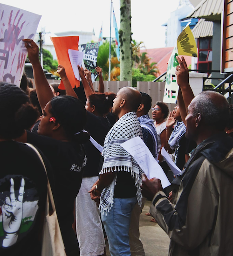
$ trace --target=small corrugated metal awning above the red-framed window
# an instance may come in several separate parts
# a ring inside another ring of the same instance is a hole
[[[197,25],[192,29],[192,34],[194,38],[213,36],[213,22],[200,19]]]

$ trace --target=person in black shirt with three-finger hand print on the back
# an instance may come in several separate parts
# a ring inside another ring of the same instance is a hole
[[[0,111],[0,255],[41,256],[47,176],[34,150],[13,140],[38,113],[23,90],[6,82],[0,82]]]

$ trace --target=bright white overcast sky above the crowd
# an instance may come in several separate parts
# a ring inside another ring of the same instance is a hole
[[[120,0],[112,0],[120,28]],[[164,47],[165,23],[179,0],[131,0],[132,39],[143,41],[147,49]],[[95,31],[110,36],[110,0],[0,0],[0,3],[42,15],[37,32]],[[114,36],[114,29],[112,29]]]

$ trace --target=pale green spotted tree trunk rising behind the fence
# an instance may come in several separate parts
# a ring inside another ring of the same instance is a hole
[[[132,82],[132,39],[130,0],[120,0],[120,12],[120,81]]]

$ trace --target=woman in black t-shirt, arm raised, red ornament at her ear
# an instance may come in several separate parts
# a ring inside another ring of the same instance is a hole
[[[38,46],[29,39],[23,41],[33,65],[36,92],[43,109],[38,134],[44,135],[27,132],[24,140],[41,149],[53,167],[55,206],[66,254],[79,255],[72,224],[74,202],[82,182],[82,167],[86,164],[81,145],[89,139],[89,134],[82,131],[86,110],[75,97],[54,97],[39,62]]]

